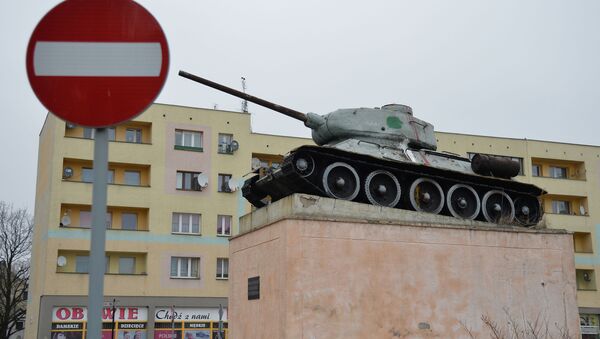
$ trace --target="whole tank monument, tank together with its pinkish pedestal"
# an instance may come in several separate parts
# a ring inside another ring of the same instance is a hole
[[[317,144],[242,187],[257,209],[230,241],[231,338],[579,337],[572,234],[538,225],[545,192],[518,163],[437,151],[409,106],[304,114],[179,75]]]

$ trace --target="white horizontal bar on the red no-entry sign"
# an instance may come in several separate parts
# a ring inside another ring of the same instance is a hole
[[[161,66],[158,42],[38,41],[33,52],[37,76],[157,77]]]

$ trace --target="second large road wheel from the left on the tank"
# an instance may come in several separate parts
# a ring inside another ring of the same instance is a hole
[[[394,207],[400,201],[400,183],[388,171],[373,171],[365,180],[365,193],[373,205]]]

